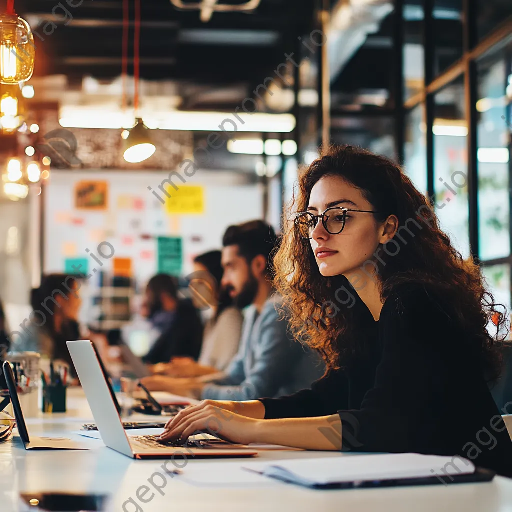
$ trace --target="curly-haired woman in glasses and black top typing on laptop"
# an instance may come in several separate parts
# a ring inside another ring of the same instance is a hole
[[[216,424],[236,443],[458,455],[512,476],[506,411],[488,388],[503,332],[490,319],[506,315],[430,202],[391,160],[348,146],[311,164],[294,211],[276,287],[327,374],[280,399],[203,401],[162,439]]]

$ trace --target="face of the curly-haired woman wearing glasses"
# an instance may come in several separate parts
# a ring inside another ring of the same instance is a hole
[[[375,210],[361,191],[344,178],[324,176],[311,190],[308,211],[319,215],[331,207]],[[312,232],[310,243],[320,273],[325,277],[345,275],[350,280],[350,276],[355,273],[364,275],[361,269],[371,272],[374,267],[367,262],[375,259],[374,254],[379,244],[392,238],[394,233],[391,237],[387,234],[392,231],[388,222],[380,223],[373,214],[361,212],[348,212],[345,228],[339,234],[330,234],[322,221],[319,221]]]

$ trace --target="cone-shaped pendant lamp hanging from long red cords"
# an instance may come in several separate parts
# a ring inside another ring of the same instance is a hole
[[[127,74],[127,2],[124,0],[124,23],[123,23],[123,83],[125,83]],[[126,48],[126,51],[125,51]],[[137,117],[139,112],[139,83],[140,83],[140,0],[135,0],[135,42],[134,42],[134,109],[136,124],[128,130],[129,135],[123,137],[123,157],[128,163],[140,163],[152,157],[157,148],[151,141],[150,131],[144,126],[142,118]],[[125,106],[125,96],[123,96],[123,108]]]

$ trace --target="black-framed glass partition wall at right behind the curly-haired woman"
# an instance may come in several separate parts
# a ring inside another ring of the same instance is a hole
[[[512,2],[395,0],[395,12],[404,168],[510,313]]]

